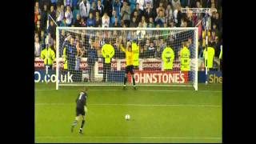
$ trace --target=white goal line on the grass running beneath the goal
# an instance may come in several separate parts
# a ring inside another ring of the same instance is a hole
[[[38,89],[38,90],[35,90],[35,91],[54,91],[54,90],[47,90],[47,89]],[[56,90],[58,91],[58,90]],[[78,91],[78,90],[76,90]],[[92,89],[92,90],[89,90],[89,91],[99,91],[97,89]],[[110,90],[107,90],[107,89],[103,89],[103,90],[100,90],[100,91],[122,91],[122,90],[113,90],[113,89],[110,89]],[[191,91],[194,91],[194,90],[138,90],[138,91],[150,91],[150,92],[191,92]],[[198,93],[198,92],[214,92],[214,93],[221,93],[222,90],[198,90],[198,91],[194,91],[195,93]]]

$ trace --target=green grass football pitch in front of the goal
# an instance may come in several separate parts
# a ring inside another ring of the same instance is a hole
[[[35,142],[222,142],[222,84],[89,86],[84,134],[71,133],[82,89],[35,84]]]

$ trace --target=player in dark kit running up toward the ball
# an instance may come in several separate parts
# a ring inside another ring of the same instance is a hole
[[[88,95],[87,95],[87,88],[86,90],[82,90],[79,94],[78,94],[78,98],[76,98],[75,102],[76,102],[76,117],[75,117],[75,120],[71,126],[71,132],[74,131],[74,126],[77,126],[78,125],[78,120],[79,120],[79,117],[80,115],[82,115],[82,124],[81,124],[81,127],[79,129],[79,133],[80,134],[83,134],[83,126],[85,124],[85,120],[86,120],[86,112],[87,112],[87,105],[86,105],[86,101],[87,101],[87,98],[88,98]]]

